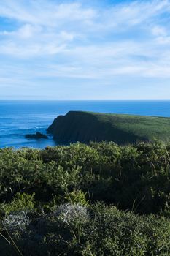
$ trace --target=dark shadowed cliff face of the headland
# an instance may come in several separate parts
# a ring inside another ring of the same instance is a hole
[[[116,127],[110,121],[109,115],[80,111],[70,111],[66,116],[58,116],[48,127],[47,132],[53,134],[54,140],[62,143],[104,140],[124,144],[146,140],[144,137]]]

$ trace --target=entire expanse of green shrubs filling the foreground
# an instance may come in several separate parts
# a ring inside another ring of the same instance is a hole
[[[169,143],[0,149],[1,256],[164,256],[169,237]]]

